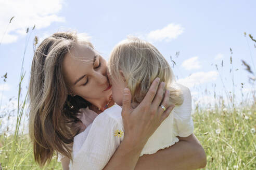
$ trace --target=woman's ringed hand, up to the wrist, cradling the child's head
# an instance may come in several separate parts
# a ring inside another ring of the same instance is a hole
[[[122,118],[124,124],[124,140],[141,149],[158,126],[169,116],[174,105],[169,102],[169,91],[163,97],[164,82],[156,78],[147,92],[144,100],[135,108],[131,107],[131,93],[124,89]],[[159,105],[163,105],[166,110]]]

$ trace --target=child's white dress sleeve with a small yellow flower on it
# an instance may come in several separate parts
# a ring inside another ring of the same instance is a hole
[[[70,163],[70,169],[103,169],[120,145],[124,129],[120,122],[106,114],[100,114]]]

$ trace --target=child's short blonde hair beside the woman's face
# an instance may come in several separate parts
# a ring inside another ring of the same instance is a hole
[[[109,74],[114,79],[122,79],[131,90],[133,102],[141,102],[152,81],[159,77],[170,90],[170,100],[175,105],[183,103],[180,89],[174,88],[174,74],[168,62],[156,47],[136,37],[122,40],[111,52],[108,63]]]

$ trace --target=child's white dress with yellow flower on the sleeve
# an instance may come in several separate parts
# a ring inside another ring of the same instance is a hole
[[[177,83],[175,83],[177,84]],[[193,133],[194,124],[191,118],[191,94],[188,88],[181,88],[184,102],[175,106],[172,113],[148,139],[140,156],[153,154],[178,142],[178,138]],[[74,137],[70,169],[103,169],[124,137],[121,116],[122,108],[114,105],[99,114],[85,131]]]

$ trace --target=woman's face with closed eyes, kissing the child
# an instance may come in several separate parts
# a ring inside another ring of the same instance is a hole
[[[71,90],[90,103],[108,100],[111,95],[106,69],[107,63],[97,51],[86,44],[76,43],[65,55],[63,75]]]

